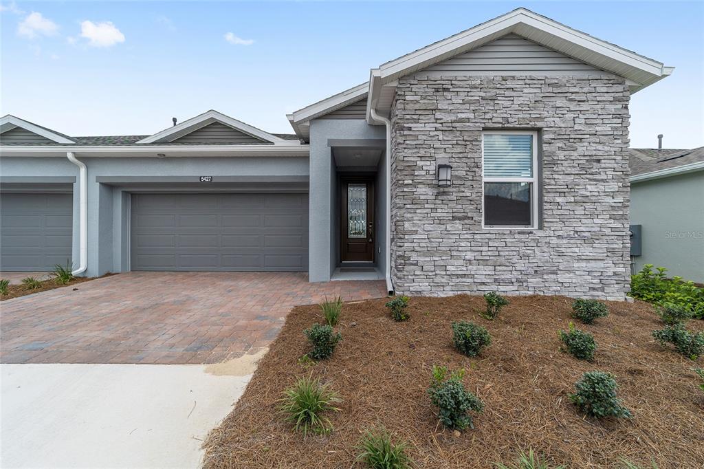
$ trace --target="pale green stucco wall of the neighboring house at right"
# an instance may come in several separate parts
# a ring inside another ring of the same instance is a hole
[[[631,224],[643,225],[645,264],[704,282],[704,171],[631,184]]]

